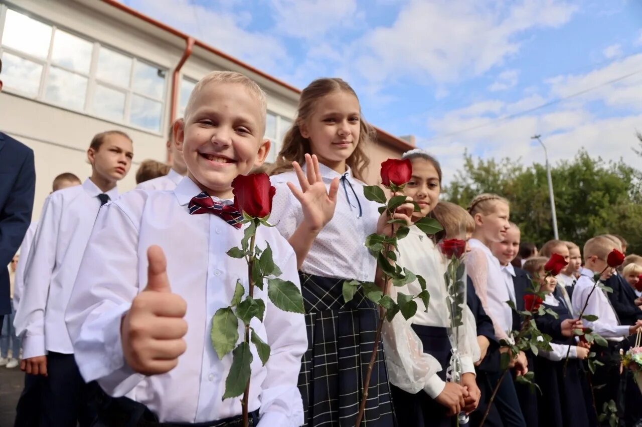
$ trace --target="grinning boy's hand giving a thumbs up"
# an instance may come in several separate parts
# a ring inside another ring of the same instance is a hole
[[[134,371],[164,374],[178,364],[178,356],[186,350],[183,337],[187,322],[183,317],[187,303],[171,293],[162,249],[150,246],[147,259],[147,286],[121,321],[121,341],[125,361]]]

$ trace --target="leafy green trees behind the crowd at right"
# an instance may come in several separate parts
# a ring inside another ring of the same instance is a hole
[[[642,253],[642,171],[621,160],[592,158],[582,149],[573,160],[552,167],[551,176],[560,239],[581,247],[594,235],[614,233],[629,241],[629,253]],[[522,240],[541,245],[553,239],[544,165],[465,153],[464,169],[444,192],[461,206],[482,192],[500,194],[510,201],[511,221],[521,228]]]

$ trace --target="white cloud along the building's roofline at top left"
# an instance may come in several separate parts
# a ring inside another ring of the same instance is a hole
[[[133,8],[200,38],[221,51],[259,69],[275,70],[291,63],[281,40],[245,28],[252,21],[248,12],[234,9],[239,2],[226,0],[220,8],[201,6],[190,0],[134,0]]]

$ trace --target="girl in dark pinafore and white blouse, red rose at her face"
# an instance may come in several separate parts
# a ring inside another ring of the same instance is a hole
[[[550,314],[541,317],[548,317],[550,321],[572,319],[564,301],[555,297],[557,279],[546,276],[544,265],[547,261],[548,258],[535,256],[524,264],[524,269],[539,281],[541,291],[546,294],[544,306],[557,314],[557,318]],[[540,350],[534,358],[535,383],[541,389],[541,393],[537,393],[540,426],[586,427],[596,423],[594,417],[589,422],[587,415],[594,414],[594,411],[591,401],[586,400],[586,380],[580,364],[580,360],[589,355],[590,347],[582,342],[578,344],[573,337],[554,338],[551,341],[551,351]],[[564,360],[567,353],[570,360],[565,373]]]

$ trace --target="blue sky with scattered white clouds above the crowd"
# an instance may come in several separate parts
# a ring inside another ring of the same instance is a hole
[[[344,78],[368,121],[415,135],[446,179],[464,149],[543,162],[534,133],[552,162],[585,147],[639,163],[637,0],[123,1],[296,87]]]

